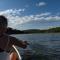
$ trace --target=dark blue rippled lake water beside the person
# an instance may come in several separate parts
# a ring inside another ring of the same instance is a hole
[[[18,34],[20,40],[27,40],[33,60],[60,60],[60,33]]]

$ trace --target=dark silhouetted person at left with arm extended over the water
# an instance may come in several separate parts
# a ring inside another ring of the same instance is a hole
[[[7,20],[8,19],[5,16],[0,15],[0,60],[7,60],[7,58],[5,59],[3,56],[1,57],[1,55],[7,52],[9,53],[12,45],[16,45],[21,48],[26,48],[28,45],[27,41],[18,40],[17,38],[6,34],[8,25]]]

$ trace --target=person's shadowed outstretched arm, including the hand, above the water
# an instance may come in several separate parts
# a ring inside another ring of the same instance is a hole
[[[11,38],[10,43],[21,48],[26,48],[28,45],[27,41],[18,40],[17,38],[14,37]]]

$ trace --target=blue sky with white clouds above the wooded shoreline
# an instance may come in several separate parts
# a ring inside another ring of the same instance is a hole
[[[0,0],[0,15],[19,30],[60,27],[60,0]]]

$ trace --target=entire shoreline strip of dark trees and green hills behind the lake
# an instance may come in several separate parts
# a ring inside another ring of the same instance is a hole
[[[50,28],[50,29],[46,29],[46,30],[40,30],[40,29],[29,29],[29,30],[16,30],[16,29],[12,29],[9,28],[7,29],[8,34],[29,34],[29,33],[58,33],[60,32],[60,27],[56,27],[56,28]]]

